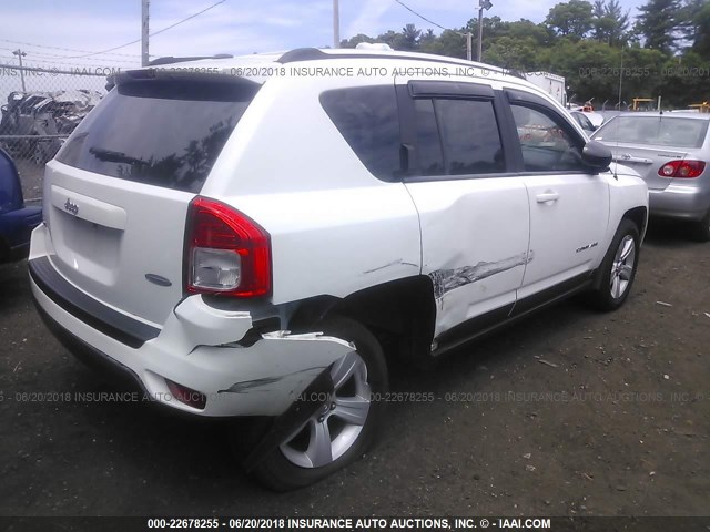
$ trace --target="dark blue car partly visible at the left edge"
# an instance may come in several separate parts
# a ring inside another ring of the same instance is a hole
[[[42,208],[24,205],[18,170],[0,150],[0,263],[27,256],[30,234],[41,221]]]

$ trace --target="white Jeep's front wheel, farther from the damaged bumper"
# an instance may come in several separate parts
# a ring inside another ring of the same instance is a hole
[[[595,308],[609,311],[623,305],[636,278],[640,241],[636,224],[621,221],[601,263],[598,287],[588,294]]]

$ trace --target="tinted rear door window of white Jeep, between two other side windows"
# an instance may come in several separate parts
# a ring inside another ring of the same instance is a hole
[[[415,100],[423,175],[506,171],[498,123],[489,100]]]

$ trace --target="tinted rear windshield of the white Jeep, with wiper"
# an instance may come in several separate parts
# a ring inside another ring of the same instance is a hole
[[[258,86],[194,78],[120,83],[82,121],[57,160],[197,193]]]

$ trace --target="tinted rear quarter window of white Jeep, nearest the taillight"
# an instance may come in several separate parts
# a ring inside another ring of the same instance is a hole
[[[400,175],[399,116],[393,85],[336,89],[321,105],[365,167],[377,178]]]

